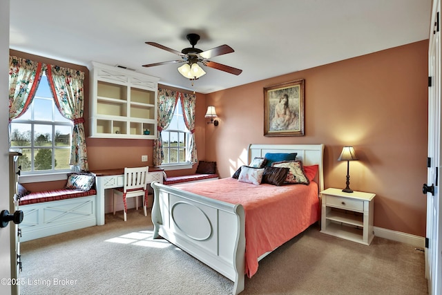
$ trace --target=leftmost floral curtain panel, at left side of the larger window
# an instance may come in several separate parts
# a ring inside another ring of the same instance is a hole
[[[34,99],[44,65],[20,57],[9,57],[9,122],[26,112]]]

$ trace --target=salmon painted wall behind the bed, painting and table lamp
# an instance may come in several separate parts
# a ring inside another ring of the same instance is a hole
[[[427,50],[419,41],[206,95],[219,126],[206,128],[206,160],[222,178],[247,164],[249,144],[325,144],[325,187],[376,193],[374,226],[425,236]],[[294,66],[296,68],[296,66]],[[305,135],[265,137],[263,88],[305,79]]]

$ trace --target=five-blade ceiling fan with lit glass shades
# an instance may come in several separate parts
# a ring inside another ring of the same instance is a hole
[[[211,59],[212,57],[217,57],[218,55],[233,53],[235,50],[233,50],[230,46],[224,44],[209,50],[202,51],[199,48],[195,48],[195,45],[200,39],[200,35],[192,33],[186,35],[186,38],[189,40],[192,47],[184,48],[183,50],[181,50],[181,52],[173,50],[161,44],[157,44],[155,42],[146,42],[146,44],[148,45],[164,49],[166,51],[169,51],[170,53],[175,53],[175,55],[180,55],[181,59],[162,61],[162,62],[157,62],[155,64],[145,64],[143,66],[148,68],[150,66],[161,66],[163,64],[177,64],[177,63],[186,62],[186,64],[183,64],[178,68],[178,71],[181,73],[181,75],[191,80],[198,79],[202,75],[206,74],[206,72],[204,72],[204,70],[198,65],[198,62],[200,62],[204,66],[208,66],[209,68],[223,70],[224,72],[231,73],[233,75],[240,75],[240,73],[242,73],[242,70],[240,70],[239,68],[233,68],[231,66],[218,64],[215,61],[208,60]]]

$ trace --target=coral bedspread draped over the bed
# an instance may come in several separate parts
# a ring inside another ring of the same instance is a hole
[[[178,184],[190,191],[231,204],[245,211],[245,274],[258,271],[258,258],[300,234],[319,218],[318,184],[249,184],[234,178]]]

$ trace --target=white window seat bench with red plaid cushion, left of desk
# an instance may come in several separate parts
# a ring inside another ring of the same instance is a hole
[[[21,242],[97,225],[95,189],[54,189],[32,192],[19,199],[23,211]]]

